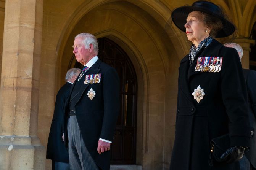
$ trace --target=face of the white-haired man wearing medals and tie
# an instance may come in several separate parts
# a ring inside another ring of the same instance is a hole
[[[85,48],[85,45],[82,43],[83,38],[77,37],[73,45],[73,53],[76,56],[76,60],[82,65],[85,65],[90,60],[91,50]]]

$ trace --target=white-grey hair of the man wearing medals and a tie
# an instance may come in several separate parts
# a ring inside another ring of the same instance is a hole
[[[97,38],[90,34],[90,33],[79,33],[76,37],[82,37],[83,38],[83,44],[85,45],[85,48],[88,49],[90,44],[93,44],[93,50],[98,53],[99,47],[98,47],[98,41]]]

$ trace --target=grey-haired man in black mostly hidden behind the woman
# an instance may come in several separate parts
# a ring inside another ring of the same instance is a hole
[[[238,52],[240,61],[243,57],[243,48],[236,43],[226,43],[226,47],[235,48]],[[248,111],[250,113],[250,124],[256,129],[256,71],[243,69],[245,76],[247,92],[248,92]],[[250,162],[249,162],[250,161]],[[240,160],[241,170],[255,170],[256,169],[256,135],[251,140],[250,150],[245,154],[245,157]]]

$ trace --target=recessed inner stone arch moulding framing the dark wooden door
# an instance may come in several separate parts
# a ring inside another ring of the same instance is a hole
[[[166,99],[166,94],[170,93],[176,97],[177,83],[176,80],[166,82],[166,77],[177,79],[177,71],[170,70],[177,69],[179,65],[179,58],[170,39],[166,39],[161,25],[138,6],[129,2],[105,3],[87,12],[74,26],[66,44],[60,48],[63,49],[63,52],[60,52],[63,54],[60,77],[63,77],[62,74],[66,71],[66,61],[72,56],[74,36],[80,32],[92,33],[97,38],[107,37],[118,43],[131,56],[136,74],[140,77],[137,136],[141,138],[137,141],[136,163],[146,169],[164,166],[164,117],[169,113],[165,107],[166,100],[169,100]],[[166,89],[168,84],[172,84],[174,88]]]

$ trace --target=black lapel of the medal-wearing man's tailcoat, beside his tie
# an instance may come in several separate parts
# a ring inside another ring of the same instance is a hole
[[[91,75],[91,74],[97,74],[99,73],[100,71],[100,59],[98,59],[95,64],[92,65],[92,67],[89,68],[89,70],[84,74],[84,76],[81,78],[81,81],[84,82],[85,81],[85,77],[86,75]],[[80,90],[79,90],[79,98],[78,100],[76,101],[76,103],[81,99],[82,97],[82,94],[84,94],[84,91],[85,89],[87,89],[87,87],[89,86],[89,84],[82,84],[82,86],[80,87]]]

